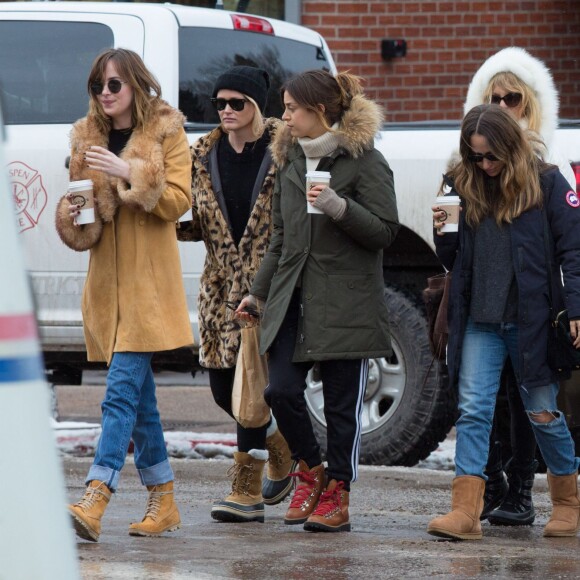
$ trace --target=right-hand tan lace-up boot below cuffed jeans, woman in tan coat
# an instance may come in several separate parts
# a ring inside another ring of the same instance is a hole
[[[149,499],[145,516],[138,524],[129,526],[130,536],[160,536],[181,527],[179,510],[173,497],[173,481],[148,485]]]

